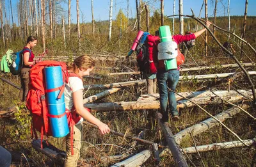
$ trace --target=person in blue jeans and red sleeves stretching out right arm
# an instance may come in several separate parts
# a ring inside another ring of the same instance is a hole
[[[210,25],[211,22],[207,21],[206,26],[209,27]],[[173,35],[172,40],[173,42],[180,44],[181,42],[186,42],[197,38],[202,33],[204,33],[205,30],[206,28],[190,35]],[[156,54],[154,54],[154,63],[157,68],[157,83],[160,95],[161,113],[163,115],[162,121],[168,122],[169,120],[168,108],[170,108],[173,120],[179,120],[179,112],[177,111],[177,101],[175,94],[172,91],[168,91],[168,88],[173,91],[176,90],[180,74],[179,67],[174,70],[166,70],[164,66],[164,60],[158,60]],[[169,107],[167,106],[167,101],[169,102]]]

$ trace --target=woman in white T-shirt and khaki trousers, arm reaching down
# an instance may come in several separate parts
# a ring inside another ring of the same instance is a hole
[[[67,64],[68,73],[76,77],[69,77],[68,83],[65,85],[64,97],[65,107],[72,111],[72,107],[76,109],[76,113],[80,115],[81,120],[74,125],[74,155],[71,151],[70,134],[66,136],[67,156],[65,166],[77,166],[77,161],[80,157],[81,139],[83,132],[83,119],[88,120],[99,127],[102,134],[108,134],[110,129],[108,125],[100,122],[95,118],[88,109],[83,106],[83,76],[88,76],[95,67],[95,61],[90,56],[79,56],[73,63]],[[73,111],[74,112],[74,111]]]

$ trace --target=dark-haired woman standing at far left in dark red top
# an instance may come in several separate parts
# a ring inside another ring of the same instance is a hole
[[[37,44],[37,39],[35,36],[29,36],[27,39],[27,44],[22,50],[23,54],[23,63],[20,70],[20,83],[21,89],[19,93],[19,99],[24,102],[28,94],[28,83],[29,83],[29,70],[35,65],[34,57],[35,55],[32,52],[33,47]]]

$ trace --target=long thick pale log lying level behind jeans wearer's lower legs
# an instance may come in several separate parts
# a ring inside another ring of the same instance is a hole
[[[247,100],[244,98],[252,97],[252,92],[247,90],[238,90],[237,91],[214,91],[216,95],[220,96],[221,98],[227,100],[228,102],[241,102],[242,100]],[[211,91],[200,91],[201,94],[192,97],[191,100],[196,102],[199,105],[202,104],[220,104],[222,100],[216,97]],[[241,94],[243,95],[241,95]],[[196,93],[197,94],[197,93]],[[189,98],[189,97],[188,97]],[[228,98],[228,99],[227,99]],[[188,100],[179,100],[177,102],[177,108],[184,108],[184,107],[192,107],[195,106],[192,102]],[[134,109],[159,109],[160,102],[159,101],[132,101],[132,102],[106,102],[106,103],[97,103],[97,104],[84,104],[84,107],[88,107],[92,109],[92,111],[127,111],[127,110],[134,110]]]

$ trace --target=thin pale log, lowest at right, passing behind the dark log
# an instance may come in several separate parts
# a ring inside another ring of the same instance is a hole
[[[244,139],[243,143],[246,143],[246,145],[253,145],[256,143],[256,139]],[[182,148],[182,152],[185,154],[195,154],[196,149],[198,152],[208,152],[212,150],[221,150],[221,149],[227,149],[227,148],[236,148],[236,147],[244,147],[245,145],[241,141],[228,141],[224,143],[212,143],[211,145],[200,145],[195,147],[187,147],[187,148]],[[172,154],[172,152],[168,148],[164,148],[163,152],[161,155],[164,154]]]

